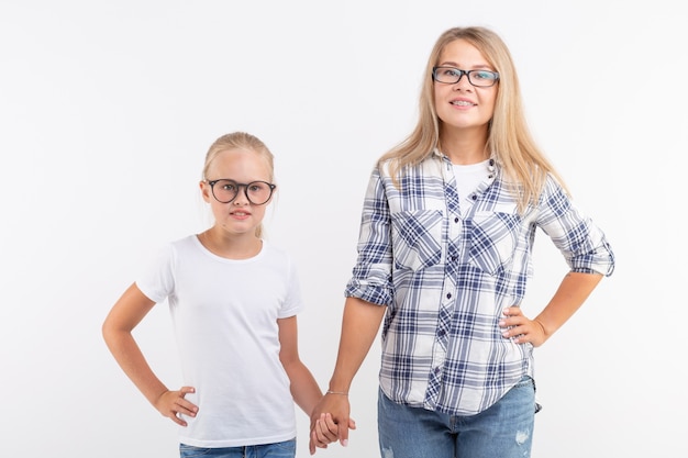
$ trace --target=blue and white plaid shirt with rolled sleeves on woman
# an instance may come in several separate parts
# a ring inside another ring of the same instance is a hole
[[[345,295],[386,305],[379,372],[393,401],[473,415],[533,373],[533,346],[501,336],[501,311],[521,303],[541,227],[574,272],[611,275],[604,234],[548,177],[519,215],[499,167],[459,205],[450,160],[435,152],[397,189],[373,170],[358,259]],[[466,208],[463,208],[466,206]]]

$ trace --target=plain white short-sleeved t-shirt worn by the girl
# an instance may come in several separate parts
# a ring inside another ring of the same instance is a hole
[[[191,235],[169,244],[136,284],[155,302],[168,300],[184,386],[196,388],[186,399],[199,412],[185,417],[180,443],[215,448],[296,437],[277,320],[302,302],[285,252],[264,241],[257,256],[226,259]]]

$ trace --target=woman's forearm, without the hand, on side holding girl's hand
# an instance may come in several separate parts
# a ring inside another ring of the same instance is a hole
[[[387,308],[347,298],[336,365],[329,390],[348,393],[351,383],[377,336]]]

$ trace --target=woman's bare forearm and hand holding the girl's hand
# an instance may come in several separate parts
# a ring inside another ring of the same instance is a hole
[[[330,413],[340,427],[339,439],[342,445],[348,443],[351,427],[348,390],[354,376],[360,368],[385,316],[385,306],[375,305],[356,298],[347,298],[342,319],[340,349],[330,389],[333,394],[325,394],[311,414],[311,455],[314,454],[313,427],[321,414]],[[345,393],[345,394],[342,394]],[[342,427],[349,425],[348,427]]]

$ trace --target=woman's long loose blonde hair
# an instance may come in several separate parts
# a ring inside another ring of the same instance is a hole
[[[480,26],[453,27],[445,31],[430,54],[419,100],[419,120],[412,133],[382,155],[379,163],[390,160],[396,186],[403,169],[433,154],[440,144],[440,123],[434,104],[432,68],[447,44],[465,40],[475,46],[499,72],[495,113],[488,126],[487,149],[501,166],[503,177],[515,193],[519,210],[540,198],[547,174],[566,186],[553,165],[531,136],[523,112],[519,78],[509,48],[495,32]],[[567,191],[568,192],[568,191]]]

